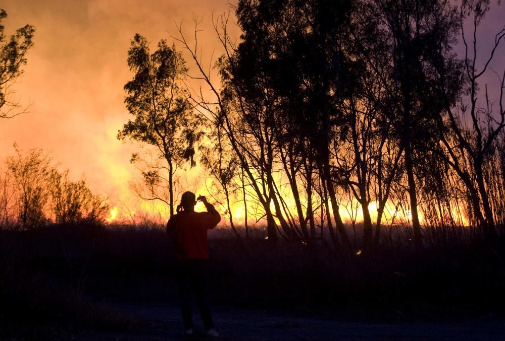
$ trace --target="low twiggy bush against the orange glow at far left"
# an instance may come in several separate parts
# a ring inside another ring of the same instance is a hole
[[[22,229],[46,225],[100,222],[108,206],[93,193],[84,179],[71,181],[69,171],[60,172],[41,149],[27,153],[15,144],[16,156],[7,158],[12,193],[4,192],[2,209],[9,210],[12,223]],[[9,202],[12,201],[12,202]],[[8,214],[7,212],[5,214]]]

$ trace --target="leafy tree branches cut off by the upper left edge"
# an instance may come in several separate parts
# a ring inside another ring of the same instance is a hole
[[[2,25],[5,18],[7,13],[0,9],[0,118],[12,118],[25,111],[19,109],[21,105],[14,98],[12,86],[23,73],[26,53],[33,46],[35,27],[25,25],[7,38]]]

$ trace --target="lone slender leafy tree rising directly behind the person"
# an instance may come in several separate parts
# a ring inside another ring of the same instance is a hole
[[[151,197],[166,202],[170,216],[174,214],[174,174],[177,167],[189,162],[195,165],[194,144],[201,137],[199,119],[191,110],[180,82],[187,73],[184,58],[175,46],[168,46],[166,40],[158,43],[158,49],[150,54],[147,40],[135,34],[128,50],[128,66],[134,73],[133,79],[125,84],[125,103],[133,120],[123,126],[118,133],[119,140],[126,138],[153,146],[160,160],[167,167],[148,164],[143,172],[144,180],[151,186]],[[138,155],[134,155],[133,161]],[[166,169],[168,176],[160,174]],[[154,186],[166,181],[168,200],[156,196]]]

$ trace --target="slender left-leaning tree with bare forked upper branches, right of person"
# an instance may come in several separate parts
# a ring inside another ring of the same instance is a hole
[[[230,70],[233,68],[233,55],[236,52],[236,46],[227,31],[228,19],[229,16],[222,16],[218,22],[214,23],[216,34],[224,48],[223,56],[216,62],[221,88],[211,80],[210,71],[207,71],[203,65],[198,55],[197,40],[194,45],[190,43],[180,27],[178,27],[180,36],[175,39],[183,44],[193,58],[198,71],[198,76],[194,76],[194,78],[203,80],[213,97],[204,96],[201,89],[200,91],[192,91],[190,94],[193,105],[202,114],[205,114],[213,125],[223,129],[241,168],[242,184],[247,182],[250,189],[249,196],[253,196],[259,203],[259,208],[263,210],[264,214],[260,219],[265,218],[267,221],[267,238],[270,241],[275,241],[278,238],[275,218],[278,219],[286,236],[291,236],[292,231],[283,217],[273,184],[273,135],[270,127],[263,124],[270,113],[258,106],[258,102],[245,103],[240,89],[232,82]],[[194,22],[196,39],[198,20],[194,18]],[[242,191],[245,198],[244,186]],[[272,202],[274,203],[273,209],[270,206]]]

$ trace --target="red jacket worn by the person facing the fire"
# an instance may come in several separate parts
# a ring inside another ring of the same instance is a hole
[[[221,221],[212,204],[205,205],[207,212],[181,212],[169,219],[167,233],[172,239],[178,259],[208,259],[207,230]]]

